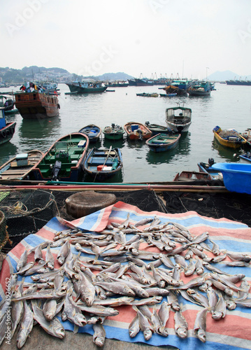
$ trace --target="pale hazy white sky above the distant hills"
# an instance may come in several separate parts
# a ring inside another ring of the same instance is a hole
[[[250,0],[0,0],[0,66],[251,74]],[[4,51],[3,51],[4,48]]]

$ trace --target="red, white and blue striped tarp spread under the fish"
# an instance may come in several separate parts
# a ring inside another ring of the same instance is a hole
[[[122,223],[127,219],[127,214],[130,214],[130,221],[136,223],[142,218],[154,218],[158,216],[162,223],[173,222],[184,225],[192,235],[200,235],[202,232],[209,232],[210,238],[215,241],[221,249],[227,249],[229,251],[239,251],[242,253],[249,253],[251,251],[251,229],[236,221],[230,221],[226,218],[214,219],[205,216],[200,216],[195,211],[187,211],[182,214],[164,214],[158,211],[145,212],[141,211],[137,207],[124,202],[117,202],[115,205],[107,207],[97,211],[94,214],[79,218],[75,221],[64,221],[62,218],[52,218],[36,235],[29,235],[23,239],[20,244],[17,244],[15,248],[8,253],[6,259],[3,261],[1,269],[0,281],[1,300],[4,298],[6,290],[6,279],[11,273],[16,272],[17,261],[20,255],[24,251],[25,247],[32,248],[44,240],[52,240],[55,232],[65,230],[66,228],[81,228],[88,232],[101,232],[106,225],[110,222]],[[130,239],[131,235],[127,235],[127,239]],[[210,245],[209,241],[206,241]],[[146,243],[142,243],[140,249],[143,250],[147,246]],[[55,254],[55,260],[59,248],[52,248],[52,253]],[[71,246],[73,253],[77,254],[78,251]],[[148,247],[148,251],[159,252],[156,247]],[[208,256],[213,256],[210,252],[206,252]],[[45,254],[45,250],[44,250]],[[83,253],[82,253],[83,254]],[[33,254],[29,255],[29,260],[32,260]],[[229,258],[227,260],[230,261]],[[248,267],[229,267],[224,264],[215,264],[218,267],[229,274],[245,274],[245,279],[251,284],[251,269]],[[55,263],[55,268],[59,267],[59,264]],[[164,265],[163,265],[164,267]],[[205,272],[210,272],[205,269]],[[185,277],[182,274],[182,280],[186,283],[189,279],[194,278],[196,275]],[[22,277],[19,276],[18,281],[21,281]],[[29,276],[25,278],[25,281],[30,281]],[[250,295],[249,295],[250,297]],[[164,301],[166,297],[163,297]],[[210,312],[206,318],[206,343],[202,343],[194,335],[194,321],[198,311],[202,309],[197,304],[188,302],[180,295],[178,300],[182,305],[182,314],[188,323],[188,337],[186,339],[180,339],[175,335],[173,315],[171,311],[170,318],[166,327],[168,328],[168,337],[162,337],[161,335],[153,334],[152,338],[145,341],[143,332],[139,332],[134,338],[129,337],[128,326],[131,320],[136,315],[136,311],[131,306],[116,307],[119,311],[117,316],[108,317],[104,322],[104,328],[106,330],[106,337],[113,339],[120,339],[124,342],[144,342],[152,346],[160,345],[172,345],[177,346],[178,349],[251,349],[251,309],[247,307],[236,307],[234,310],[227,310],[225,318],[221,318],[215,321]],[[158,304],[159,307],[160,304]],[[151,308],[151,307],[150,307]],[[62,322],[64,328],[67,330],[73,330],[73,325],[68,321]],[[79,332],[88,332],[93,334],[92,325],[85,325],[83,328],[79,328]]]

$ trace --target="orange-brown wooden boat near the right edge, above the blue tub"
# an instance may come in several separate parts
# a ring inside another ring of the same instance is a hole
[[[213,134],[219,144],[228,148],[241,148],[248,142],[234,129],[222,130],[219,126],[216,126],[213,129]]]

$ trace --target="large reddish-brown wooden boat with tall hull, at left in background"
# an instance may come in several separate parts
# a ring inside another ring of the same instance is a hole
[[[34,90],[16,92],[15,106],[24,119],[52,118],[59,115],[57,96],[50,96]]]

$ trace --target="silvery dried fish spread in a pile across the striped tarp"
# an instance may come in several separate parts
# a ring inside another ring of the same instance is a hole
[[[127,235],[131,238],[127,239]],[[148,251],[152,246],[157,253]],[[58,252],[60,267],[55,268],[53,251]],[[30,258],[32,261],[27,262]],[[64,327],[56,317],[61,316],[62,321],[73,323],[74,332],[92,324],[94,343],[103,346],[103,322],[106,317],[119,314],[116,307],[120,305],[132,305],[136,311],[129,325],[130,337],[139,331],[146,340],[153,332],[167,337],[172,310],[175,333],[185,338],[188,326],[178,302],[181,295],[202,307],[196,316],[194,335],[206,342],[208,312],[214,320],[220,320],[227,309],[238,304],[251,307],[245,275],[228,274],[214,263],[248,266],[250,261],[250,254],[220,250],[208,232],[193,237],[184,226],[161,223],[157,216],[135,222],[128,214],[126,221],[110,223],[100,233],[76,229],[57,232],[54,241],[43,241],[31,250],[26,248],[17,263],[17,272],[10,276],[10,339],[17,329],[20,349],[34,323],[50,335],[63,338]],[[183,274],[191,276],[187,283],[182,281]],[[24,277],[20,283],[17,275]],[[26,276],[34,283],[25,281]],[[237,286],[239,281],[241,285]],[[8,300],[3,301],[0,342],[6,337],[8,307]]]

